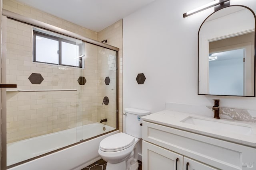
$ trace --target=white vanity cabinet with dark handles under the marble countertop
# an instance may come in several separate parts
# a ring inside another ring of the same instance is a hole
[[[247,170],[245,164],[256,162],[254,147],[148,121],[142,138],[143,170],[187,170],[187,163],[188,170]]]

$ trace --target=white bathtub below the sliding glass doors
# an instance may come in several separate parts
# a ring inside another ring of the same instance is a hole
[[[9,143],[7,144],[7,166],[39,156],[52,150],[66,147],[79,142],[81,139],[85,140],[114,129],[115,128],[102,123],[92,123],[83,125],[82,127],[75,127],[64,131]],[[80,143],[67,149],[63,149],[10,168],[10,170],[80,170],[83,166],[86,166],[99,158],[98,146],[100,141],[105,137],[118,132],[119,131],[114,131],[112,133],[102,135],[84,143]]]

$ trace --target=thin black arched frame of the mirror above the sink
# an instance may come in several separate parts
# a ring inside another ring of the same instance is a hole
[[[236,95],[226,95],[226,94],[199,94],[199,34],[200,34],[200,29],[201,29],[201,27],[202,27],[202,25],[204,24],[204,22],[210,17],[210,16],[212,16],[214,13],[216,13],[216,12],[218,12],[218,11],[220,11],[220,10],[222,10],[222,9],[224,9],[224,8],[228,8],[228,7],[232,7],[232,6],[240,6],[240,7],[244,7],[244,8],[247,8],[248,10],[250,10],[250,12],[252,12],[252,14],[254,15],[254,94],[252,94],[252,96],[239,96],[239,97],[255,97],[255,84],[256,84],[256,82],[255,82],[255,74],[256,74],[256,57],[255,57],[255,55],[256,55],[256,33],[255,33],[255,31],[256,31],[256,15],[255,15],[255,13],[254,13],[254,11],[251,9],[251,8],[249,8],[249,7],[247,7],[247,6],[243,6],[243,5],[230,5],[230,6],[225,6],[225,7],[223,7],[223,8],[220,8],[220,9],[218,9],[218,10],[216,10],[216,11],[214,11],[212,14],[210,14],[203,22],[202,22],[202,24],[200,25],[200,28],[199,28],[199,30],[198,30],[198,89],[197,89],[197,94],[198,95],[207,95],[207,96],[236,96]]]

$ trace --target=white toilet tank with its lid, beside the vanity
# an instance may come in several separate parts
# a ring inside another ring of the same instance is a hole
[[[126,113],[126,133],[132,135],[133,137],[142,138],[142,123],[141,117],[144,115],[149,115],[150,111],[126,108],[124,109]]]

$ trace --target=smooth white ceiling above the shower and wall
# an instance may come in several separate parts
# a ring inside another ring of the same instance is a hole
[[[99,32],[154,0],[18,0]]]

